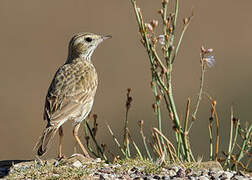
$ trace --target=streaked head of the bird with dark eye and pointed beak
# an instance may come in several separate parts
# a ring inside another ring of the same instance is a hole
[[[72,37],[68,47],[68,61],[75,58],[90,60],[96,47],[110,35],[102,36],[94,33],[78,33]]]

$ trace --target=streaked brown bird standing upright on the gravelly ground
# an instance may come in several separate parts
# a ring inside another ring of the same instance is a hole
[[[45,98],[44,117],[47,125],[35,145],[37,155],[44,155],[55,134],[59,133],[58,157],[62,158],[62,125],[72,121],[73,137],[83,155],[90,157],[78,137],[81,122],[89,115],[98,85],[98,76],[91,61],[97,46],[111,35],[81,32],[68,45],[65,63],[56,71]]]

